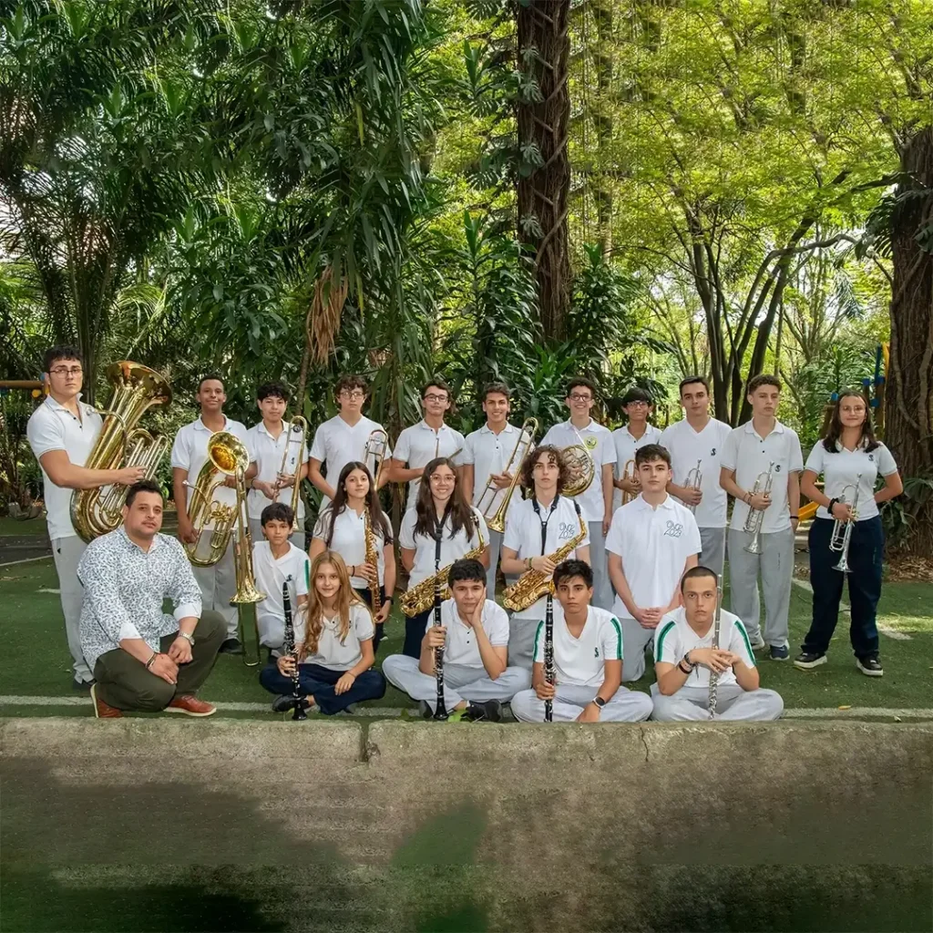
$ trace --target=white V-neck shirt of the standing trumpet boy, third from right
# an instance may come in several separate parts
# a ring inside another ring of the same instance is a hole
[[[719,485],[719,470],[731,433],[731,427],[716,418],[710,418],[702,431],[694,431],[685,418],[665,427],[658,441],[671,454],[674,481],[678,486],[687,484],[689,472],[696,469],[697,461],[700,461],[703,501],[693,512],[693,517],[701,528],[726,527],[729,496]]]

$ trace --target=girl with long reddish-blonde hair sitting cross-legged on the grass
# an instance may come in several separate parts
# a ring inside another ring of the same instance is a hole
[[[332,716],[351,703],[378,700],[385,694],[385,678],[373,670],[375,634],[369,609],[350,585],[340,554],[325,550],[311,567],[308,602],[295,618],[299,689],[309,705],[317,704]],[[272,711],[291,706],[295,659],[283,655],[263,668],[259,683],[278,694]]]

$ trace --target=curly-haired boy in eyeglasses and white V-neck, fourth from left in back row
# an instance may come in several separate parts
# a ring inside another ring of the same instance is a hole
[[[324,511],[334,497],[334,483],[341,475],[341,469],[354,461],[365,463],[366,443],[369,435],[373,431],[385,430],[383,425],[363,414],[363,406],[366,404],[368,395],[369,386],[362,376],[341,377],[334,386],[334,396],[337,398],[340,411],[314,432],[308,479],[324,494],[320,511]],[[388,439],[388,434],[384,439]],[[385,457],[392,455],[388,443],[385,445],[384,455]],[[321,472],[321,466],[325,464],[327,465],[327,478]],[[333,480],[333,483],[329,480]],[[380,485],[383,485],[385,480],[386,474],[383,472]]]

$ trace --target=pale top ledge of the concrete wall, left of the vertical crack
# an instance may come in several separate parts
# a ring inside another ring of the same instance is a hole
[[[358,762],[357,722],[244,719],[0,718],[0,754],[17,758],[335,759]]]

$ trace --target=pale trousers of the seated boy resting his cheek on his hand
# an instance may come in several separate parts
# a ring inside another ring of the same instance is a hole
[[[383,661],[383,675],[390,684],[404,690],[412,700],[425,700],[433,710],[438,700],[438,681],[432,674],[418,670],[418,661],[404,654],[390,654]],[[531,675],[521,667],[507,667],[495,679],[483,667],[444,664],[444,705],[452,710],[465,700],[483,703],[498,700],[508,703],[531,683]]]

